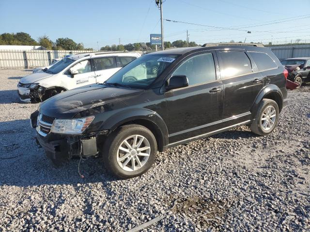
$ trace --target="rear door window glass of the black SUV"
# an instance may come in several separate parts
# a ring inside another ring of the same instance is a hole
[[[252,72],[251,62],[245,52],[219,52],[222,64],[220,66],[221,78],[239,76]]]

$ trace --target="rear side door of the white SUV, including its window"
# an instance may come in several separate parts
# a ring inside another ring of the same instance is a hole
[[[120,70],[116,65],[115,56],[93,58],[96,83],[103,83],[111,75]]]

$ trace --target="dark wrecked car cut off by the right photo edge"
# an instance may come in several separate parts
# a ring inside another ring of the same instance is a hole
[[[298,87],[305,82],[310,82],[310,58],[283,59],[281,64],[289,72],[287,79],[295,82]]]

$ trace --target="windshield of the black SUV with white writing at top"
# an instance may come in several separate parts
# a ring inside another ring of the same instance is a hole
[[[146,89],[177,57],[177,55],[148,55],[140,57],[124,66],[104,84]]]

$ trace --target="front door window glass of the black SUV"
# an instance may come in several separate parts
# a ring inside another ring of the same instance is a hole
[[[216,79],[213,55],[207,53],[189,58],[172,75],[186,75],[188,85],[213,81]]]

